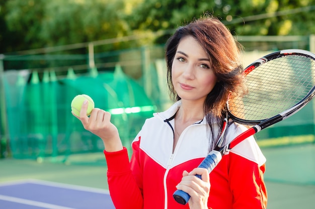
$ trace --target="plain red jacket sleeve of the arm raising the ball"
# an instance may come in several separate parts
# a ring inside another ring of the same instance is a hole
[[[130,168],[126,147],[106,152],[107,178],[111,198],[116,209],[143,208],[143,196]]]

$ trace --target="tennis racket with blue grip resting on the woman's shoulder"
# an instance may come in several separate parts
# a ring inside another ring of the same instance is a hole
[[[245,68],[244,75],[248,93],[242,98],[230,96],[218,143],[198,166],[209,173],[234,146],[293,115],[315,95],[315,55],[305,50],[282,50],[266,55]],[[229,120],[251,128],[224,145]],[[186,204],[190,195],[176,190],[173,197]]]

